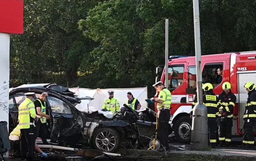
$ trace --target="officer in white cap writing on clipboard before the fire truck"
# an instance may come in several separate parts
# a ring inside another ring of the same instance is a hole
[[[171,92],[162,84],[161,81],[153,84],[155,89],[159,91],[158,98],[151,98],[151,101],[157,102],[158,115],[158,135],[160,142],[166,150],[170,149],[168,143],[170,107],[172,103]]]

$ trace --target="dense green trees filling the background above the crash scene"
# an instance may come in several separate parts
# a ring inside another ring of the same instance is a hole
[[[200,0],[202,55],[255,50],[255,12],[252,0]],[[26,0],[11,84],[149,86],[164,64],[166,18],[169,55],[194,56],[192,0]]]

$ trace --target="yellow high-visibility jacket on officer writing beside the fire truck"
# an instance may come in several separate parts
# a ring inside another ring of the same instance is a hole
[[[157,103],[157,109],[162,109],[162,106],[164,109],[170,109],[171,103],[172,103],[172,95],[171,92],[164,88],[159,92],[158,98],[160,100],[163,100],[163,103]]]

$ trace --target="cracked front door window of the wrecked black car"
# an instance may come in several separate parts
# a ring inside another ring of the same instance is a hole
[[[72,114],[71,113],[71,109],[67,105],[67,103],[63,102],[62,100],[60,100],[58,98],[51,97],[51,96],[48,96],[47,99],[48,99],[48,101],[50,103],[50,106],[51,106],[51,109],[52,109],[53,113]]]

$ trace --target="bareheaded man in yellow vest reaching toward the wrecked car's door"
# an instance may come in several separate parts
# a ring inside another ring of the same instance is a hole
[[[36,123],[35,137],[40,136],[43,144],[47,145],[46,140],[46,119],[50,119],[50,116],[46,114],[46,97],[47,92],[43,92],[39,98],[34,101],[36,107],[36,114],[40,120]]]

